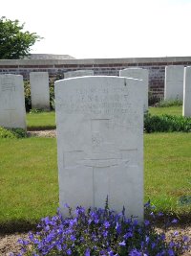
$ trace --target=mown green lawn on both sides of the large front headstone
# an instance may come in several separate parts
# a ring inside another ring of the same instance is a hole
[[[1,232],[27,226],[58,206],[56,141],[54,138],[0,140]],[[191,204],[179,204],[191,196],[191,134],[144,135],[144,196],[158,211],[191,220]]]

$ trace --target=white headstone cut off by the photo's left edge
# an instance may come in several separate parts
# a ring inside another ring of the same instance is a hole
[[[0,75],[0,127],[26,128],[22,76]]]

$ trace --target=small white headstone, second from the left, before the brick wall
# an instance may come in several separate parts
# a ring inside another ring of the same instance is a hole
[[[32,108],[50,110],[49,73],[30,73]]]

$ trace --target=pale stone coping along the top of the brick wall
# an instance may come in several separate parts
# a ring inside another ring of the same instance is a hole
[[[1,59],[1,66],[52,66],[56,65],[125,65],[125,64],[181,64],[191,62],[191,57],[164,57],[164,58],[76,58],[76,59]]]

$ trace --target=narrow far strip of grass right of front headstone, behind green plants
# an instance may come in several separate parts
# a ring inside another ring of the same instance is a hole
[[[168,106],[168,107],[149,107],[149,113],[152,115],[182,115],[182,106]]]

